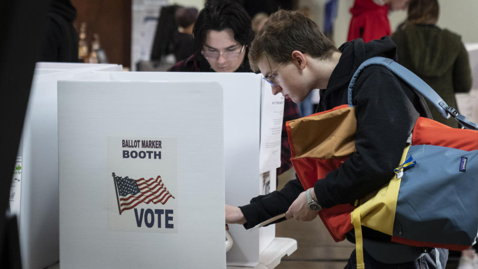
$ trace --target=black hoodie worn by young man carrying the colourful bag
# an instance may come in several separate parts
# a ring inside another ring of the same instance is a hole
[[[343,44],[339,63],[321,90],[319,111],[347,104],[347,88],[359,65],[374,56],[396,59],[396,47],[390,37],[363,43],[356,39]],[[393,176],[408,135],[418,118],[430,117],[425,100],[391,71],[381,66],[365,68],[354,89],[357,113],[357,152],[339,169],[315,183],[319,204],[329,208],[354,203],[386,184]],[[317,130],[320,132],[320,130]],[[246,229],[287,211],[304,189],[299,179],[289,181],[280,191],[252,198],[241,206]],[[282,218],[279,221],[283,221]]]

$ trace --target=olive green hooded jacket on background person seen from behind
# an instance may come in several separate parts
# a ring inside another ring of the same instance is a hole
[[[455,93],[469,92],[472,73],[468,52],[461,37],[431,24],[408,24],[392,36],[397,44],[398,63],[410,69],[457,109]],[[444,119],[431,107],[433,119],[458,128],[454,119]]]

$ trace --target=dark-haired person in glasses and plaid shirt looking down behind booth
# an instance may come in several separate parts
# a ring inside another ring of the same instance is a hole
[[[252,72],[247,53],[254,38],[247,11],[235,1],[210,0],[199,12],[193,28],[194,54],[168,71]],[[300,118],[299,109],[287,97],[282,121],[281,166],[277,175],[292,167],[285,122]]]

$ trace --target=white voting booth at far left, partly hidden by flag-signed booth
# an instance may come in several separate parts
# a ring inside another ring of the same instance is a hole
[[[37,63],[13,172],[9,212],[16,214],[22,268],[59,259],[57,81],[116,64]]]

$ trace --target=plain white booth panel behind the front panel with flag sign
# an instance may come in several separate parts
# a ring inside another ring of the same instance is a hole
[[[280,128],[283,115],[283,97],[272,96],[269,84],[253,73],[182,73],[182,72],[108,72],[112,81],[217,81],[224,89],[224,154],[226,203],[244,205],[252,197],[265,194],[264,178],[260,174],[259,141],[261,103],[269,98],[282,100],[279,114]],[[87,78],[85,78],[87,79]],[[178,106],[181,109],[182,106]],[[280,132],[279,132],[280,141]],[[262,170],[274,170],[268,176],[275,190],[275,168],[280,166],[280,145],[275,163],[263,165]],[[264,154],[265,155],[265,154]],[[273,180],[270,180],[273,179]],[[256,230],[245,230],[240,225],[230,225],[234,245],[227,253],[228,266],[257,265],[259,254],[275,238],[275,225]]]

